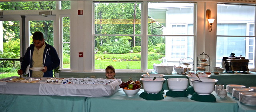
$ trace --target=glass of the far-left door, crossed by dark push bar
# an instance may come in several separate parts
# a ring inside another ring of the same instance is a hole
[[[0,21],[0,58],[20,58],[20,21]],[[0,61],[0,72],[16,72],[19,61]]]

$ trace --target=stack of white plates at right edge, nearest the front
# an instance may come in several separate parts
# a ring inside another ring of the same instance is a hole
[[[255,92],[239,92],[239,102],[244,104],[256,105]]]

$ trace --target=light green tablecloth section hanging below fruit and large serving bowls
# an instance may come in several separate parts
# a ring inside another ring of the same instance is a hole
[[[168,90],[165,90],[166,93]],[[135,96],[128,97],[123,90],[109,97],[88,97],[86,112],[238,112],[238,104],[230,97],[224,99],[216,96],[217,102],[198,102],[188,97],[173,98],[166,96],[163,100],[145,100]],[[165,94],[163,94],[165,95]]]

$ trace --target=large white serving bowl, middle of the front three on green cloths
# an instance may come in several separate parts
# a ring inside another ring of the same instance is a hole
[[[172,91],[184,91],[188,86],[187,78],[168,78],[167,79],[168,87]]]

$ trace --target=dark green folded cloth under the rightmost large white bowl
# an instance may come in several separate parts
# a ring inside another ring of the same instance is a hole
[[[216,98],[213,94],[199,95],[196,92],[191,96],[190,99],[199,102],[216,102]]]

